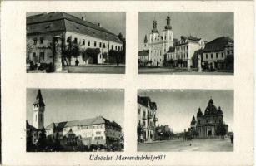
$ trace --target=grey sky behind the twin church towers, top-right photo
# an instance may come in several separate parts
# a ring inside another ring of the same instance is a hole
[[[163,32],[166,17],[171,17],[174,38],[193,35],[203,41],[213,41],[217,37],[233,38],[233,12],[139,12],[138,49],[143,50],[144,37],[153,28],[153,20],[158,23],[158,32]]]

